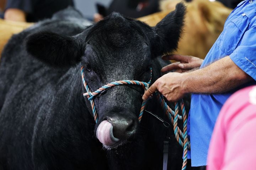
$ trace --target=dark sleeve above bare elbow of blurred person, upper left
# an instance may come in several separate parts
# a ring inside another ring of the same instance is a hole
[[[5,10],[9,8],[17,8],[26,13],[32,13],[33,3],[32,0],[8,0],[6,3]]]

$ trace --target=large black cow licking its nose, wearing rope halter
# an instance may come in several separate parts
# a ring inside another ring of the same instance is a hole
[[[95,124],[80,68],[92,90],[116,80],[147,82],[150,68],[155,81],[167,64],[157,56],[177,47],[184,15],[178,4],[154,28],[118,13],[85,28],[69,8],[14,35],[0,66],[2,169],[161,169],[165,129],[146,113],[139,123],[143,88],[120,85],[95,97]],[[147,109],[165,117],[155,97]],[[111,123],[108,137],[118,138],[103,149],[96,138],[102,122]],[[181,169],[173,135],[169,152],[169,169]]]

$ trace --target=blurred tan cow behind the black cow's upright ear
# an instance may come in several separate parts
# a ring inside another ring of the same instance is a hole
[[[181,0],[161,1],[161,12],[138,19],[155,26],[175,9],[178,2]],[[187,5],[187,15],[176,53],[204,58],[222,32],[226,18],[232,10],[218,1],[193,0],[184,3]]]

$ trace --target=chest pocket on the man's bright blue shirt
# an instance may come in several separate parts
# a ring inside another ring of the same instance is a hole
[[[225,55],[230,55],[244,35],[247,27],[249,26],[248,17],[240,15],[232,19],[224,28],[223,32],[217,39],[217,45]]]

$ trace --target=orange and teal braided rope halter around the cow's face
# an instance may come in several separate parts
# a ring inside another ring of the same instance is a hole
[[[102,87],[100,87],[100,89],[92,92],[89,88],[89,86],[87,85],[86,81],[85,81],[85,77],[84,77],[84,66],[81,67],[81,76],[82,76],[82,81],[86,90],[86,93],[84,93],[84,97],[87,97],[87,99],[90,101],[91,103],[91,107],[92,107],[92,114],[94,115],[94,120],[97,123],[98,121],[98,116],[97,116],[97,112],[95,109],[95,104],[94,104],[94,97],[95,96],[99,96],[101,94],[104,94],[106,90],[110,89],[113,86],[118,86],[118,85],[126,85],[126,84],[130,84],[130,85],[140,85],[142,86],[142,88],[144,90],[148,90],[149,88],[149,84],[151,83],[151,79],[152,79],[152,69],[151,70],[151,74],[150,74],[150,80],[148,83],[145,83],[143,81],[137,81],[137,80],[120,80],[120,81],[114,81],[112,83],[108,83],[107,85],[104,85]],[[142,106],[140,108],[140,113],[139,113],[139,122],[142,118],[143,115],[143,111],[146,105],[146,100],[142,102]]]

